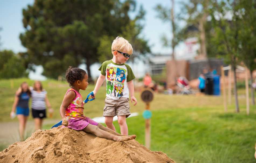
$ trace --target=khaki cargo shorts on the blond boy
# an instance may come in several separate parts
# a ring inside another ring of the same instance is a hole
[[[120,116],[131,115],[129,98],[120,97],[118,100],[112,100],[108,97],[105,99],[105,106],[103,109],[103,116]]]

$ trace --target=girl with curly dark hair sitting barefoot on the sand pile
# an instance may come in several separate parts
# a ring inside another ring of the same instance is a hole
[[[63,126],[74,130],[83,130],[97,137],[116,142],[128,141],[136,137],[136,135],[121,137],[117,132],[83,115],[83,105],[85,103],[79,90],[85,90],[89,84],[88,75],[84,70],[70,66],[65,77],[71,88],[67,90],[59,109]]]

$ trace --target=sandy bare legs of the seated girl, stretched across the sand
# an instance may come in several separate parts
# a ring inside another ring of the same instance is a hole
[[[88,124],[88,126],[86,126],[83,129],[83,131],[92,133],[99,138],[105,138],[105,139],[113,140],[115,142],[124,142],[124,141],[128,141],[128,140],[131,140],[132,138],[136,137],[135,135],[134,135],[134,137],[120,137],[117,135],[113,135],[104,130],[101,130],[99,127],[94,126],[92,124]]]

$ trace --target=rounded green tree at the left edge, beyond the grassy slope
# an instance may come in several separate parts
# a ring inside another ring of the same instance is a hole
[[[0,51],[0,78],[27,77],[26,68],[22,59],[10,50]]]

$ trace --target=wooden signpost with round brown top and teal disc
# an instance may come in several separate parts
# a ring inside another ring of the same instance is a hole
[[[153,97],[154,97],[154,95],[153,95],[153,91],[151,89],[144,89],[141,92],[141,99],[143,102],[146,103],[146,108],[145,108],[146,110],[143,112],[143,117],[145,118],[145,146],[149,149],[150,149],[150,142],[151,142],[150,121],[151,121],[151,117],[152,117],[152,113],[151,113],[151,111],[149,111],[149,109],[150,109],[149,103],[153,100]]]

